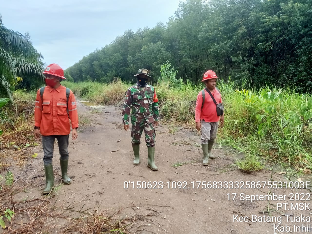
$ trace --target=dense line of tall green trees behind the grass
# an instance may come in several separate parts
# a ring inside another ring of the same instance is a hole
[[[198,83],[205,70],[254,86],[312,91],[311,0],[187,0],[164,25],[128,30],[67,71],[75,81],[133,79],[141,67]]]

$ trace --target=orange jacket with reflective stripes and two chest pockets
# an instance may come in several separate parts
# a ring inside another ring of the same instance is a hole
[[[35,126],[40,127],[41,135],[68,135],[71,132],[71,127],[78,128],[77,104],[72,91],[68,97],[71,125],[66,107],[66,87],[60,85],[54,89],[46,86],[42,99],[40,89],[38,90],[35,103]]]

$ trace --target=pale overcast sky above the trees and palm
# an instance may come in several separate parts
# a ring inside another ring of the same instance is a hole
[[[63,69],[124,31],[168,22],[180,0],[2,0],[5,27],[29,32],[46,64]]]

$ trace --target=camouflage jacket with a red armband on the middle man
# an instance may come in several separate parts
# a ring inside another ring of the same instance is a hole
[[[137,83],[127,90],[122,110],[123,124],[129,124],[130,108],[134,117],[153,116],[154,120],[158,121],[158,99],[155,88],[152,85],[141,87]]]

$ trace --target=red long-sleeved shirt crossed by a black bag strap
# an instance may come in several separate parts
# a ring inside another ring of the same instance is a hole
[[[216,100],[217,104],[222,103],[221,94],[217,89],[211,92],[212,96]],[[205,102],[202,108],[202,91],[197,95],[196,107],[195,107],[195,122],[200,122],[201,120],[205,122],[218,122],[220,116],[217,116],[216,104],[214,104],[212,98],[205,90]]]

